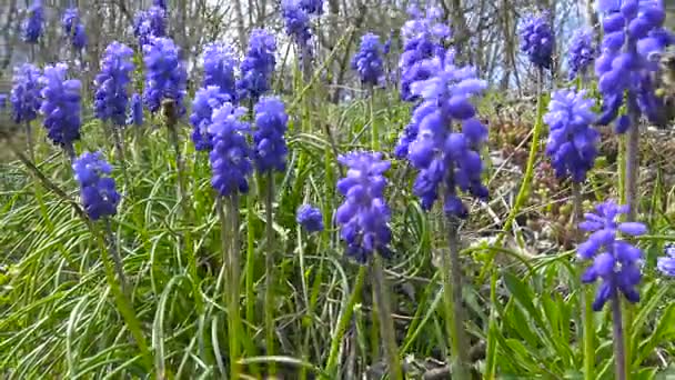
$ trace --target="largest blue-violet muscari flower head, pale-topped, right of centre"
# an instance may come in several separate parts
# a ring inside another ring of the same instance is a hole
[[[447,214],[465,218],[467,210],[457,196],[457,189],[478,199],[487,197],[481,182],[483,163],[480,147],[487,129],[475,118],[471,98],[481,93],[487,83],[476,77],[474,68],[454,64],[449,49],[443,57],[427,59],[420,64],[433,77],[411,86],[423,102],[414,110],[412,120],[417,133],[410,143],[407,158],[420,170],[413,192],[422,207],[430,210],[444,190],[444,210]],[[452,130],[461,124],[461,131]]]

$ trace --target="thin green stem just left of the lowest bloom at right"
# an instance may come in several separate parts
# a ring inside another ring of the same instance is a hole
[[[581,183],[572,182],[573,228],[582,222],[583,198]],[[581,238],[577,233],[577,238]],[[581,270],[581,268],[580,268]],[[580,273],[581,278],[581,273]],[[582,318],[584,321],[584,380],[595,379],[595,321],[593,320],[593,293],[591,289],[582,288]]]

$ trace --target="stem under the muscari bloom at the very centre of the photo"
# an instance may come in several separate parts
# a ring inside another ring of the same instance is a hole
[[[377,253],[373,254],[372,270],[374,288],[373,293],[375,296],[375,303],[377,304],[380,331],[384,344],[384,353],[386,354],[386,361],[389,362],[390,379],[403,380],[401,361],[399,360],[399,348],[396,344],[396,330],[394,328],[394,320],[392,318],[384,271],[382,270],[382,259]]]

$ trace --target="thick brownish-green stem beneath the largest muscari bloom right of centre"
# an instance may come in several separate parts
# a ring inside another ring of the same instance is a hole
[[[457,220],[447,218],[447,246],[443,252],[443,294],[445,297],[445,326],[450,339],[451,362],[454,361],[457,379],[469,379],[466,370],[467,344],[464,337],[464,308],[462,307],[462,268],[457,238]],[[454,357],[454,360],[453,360]],[[454,374],[454,373],[453,373]]]

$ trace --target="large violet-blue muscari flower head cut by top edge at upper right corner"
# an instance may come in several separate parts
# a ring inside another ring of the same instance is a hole
[[[595,62],[598,90],[603,96],[602,114],[597,123],[606,126],[616,119],[615,130],[631,128],[627,114],[619,114],[627,92],[627,112],[644,114],[662,123],[663,99],[655,93],[652,74],[658,69],[658,58],[673,43],[673,36],[663,28],[663,3],[654,0],[602,1],[605,12],[605,37],[602,54]]]

